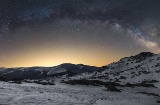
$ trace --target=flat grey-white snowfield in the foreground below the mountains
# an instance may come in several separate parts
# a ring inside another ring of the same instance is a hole
[[[142,91],[143,88],[123,88],[122,92],[108,92],[104,87],[72,86],[59,82],[54,86],[0,82],[0,103],[2,105],[158,105],[156,102],[158,98],[137,94],[138,90]]]

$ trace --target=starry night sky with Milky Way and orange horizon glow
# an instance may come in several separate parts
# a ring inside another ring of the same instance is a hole
[[[0,0],[0,67],[103,66],[160,53],[160,0]]]

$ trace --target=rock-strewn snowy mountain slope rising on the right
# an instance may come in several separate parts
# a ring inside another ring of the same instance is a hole
[[[138,55],[120,59],[99,71],[83,73],[71,79],[96,79],[125,84],[154,84],[160,88],[160,54],[142,52]]]

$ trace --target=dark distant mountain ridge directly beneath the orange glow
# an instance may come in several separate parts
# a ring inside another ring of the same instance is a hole
[[[6,78],[42,79],[54,76],[93,72],[98,69],[98,67],[94,66],[65,63],[55,67],[0,68],[0,76]]]

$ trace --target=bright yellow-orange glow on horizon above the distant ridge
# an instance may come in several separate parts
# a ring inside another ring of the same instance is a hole
[[[101,67],[119,60],[119,55],[109,52],[104,53],[97,49],[87,48],[73,49],[39,49],[15,53],[8,56],[8,59],[1,67],[52,67],[62,63],[84,64]]]

